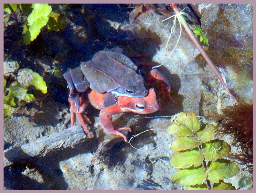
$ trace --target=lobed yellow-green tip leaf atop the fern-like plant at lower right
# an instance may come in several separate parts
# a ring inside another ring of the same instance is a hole
[[[197,132],[199,129],[200,124],[197,115],[193,112],[189,112],[187,115],[183,112],[177,114],[174,124],[167,128],[171,134],[181,136],[191,136],[193,132]]]

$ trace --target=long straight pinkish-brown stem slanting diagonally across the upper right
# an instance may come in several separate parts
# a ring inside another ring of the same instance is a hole
[[[187,32],[188,36],[190,37],[190,39],[194,42],[194,44],[196,45],[197,49],[200,51],[201,55],[204,57],[204,59],[206,60],[206,62],[209,64],[210,68],[212,69],[212,71],[214,72],[214,74],[217,76],[217,78],[219,79],[220,83],[224,86],[224,88],[227,90],[229,96],[231,96],[231,98],[233,99],[233,101],[235,102],[235,104],[238,105],[237,100],[235,99],[235,97],[230,93],[228,86],[226,85],[226,83],[223,81],[222,77],[221,77],[221,73],[219,72],[219,70],[217,69],[217,67],[213,64],[213,62],[210,60],[210,58],[208,57],[208,55],[206,54],[206,52],[204,51],[204,49],[202,48],[202,46],[200,45],[200,43],[197,41],[197,38],[195,37],[194,33],[191,31],[191,29],[189,28],[186,20],[184,19],[184,17],[182,16],[182,14],[180,14],[177,6],[175,4],[171,4],[172,9],[174,11],[174,13],[176,14],[177,18],[179,19],[180,23],[182,24],[182,26],[184,27],[185,31]]]

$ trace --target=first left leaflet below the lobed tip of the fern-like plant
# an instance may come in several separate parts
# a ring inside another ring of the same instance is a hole
[[[171,145],[171,149],[174,151],[183,151],[192,149],[200,144],[194,136],[180,136],[177,137]]]

